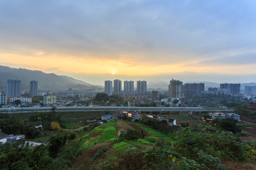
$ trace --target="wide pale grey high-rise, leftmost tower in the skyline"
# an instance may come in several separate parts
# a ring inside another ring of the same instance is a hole
[[[7,96],[19,97],[20,96],[20,80],[7,80]]]

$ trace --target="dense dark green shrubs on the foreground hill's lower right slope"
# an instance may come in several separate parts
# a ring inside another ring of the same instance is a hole
[[[144,150],[131,146],[111,166],[124,170],[223,170],[221,160],[248,161],[255,156],[251,146],[229,132],[195,132],[186,127],[173,136],[174,144],[160,139]]]

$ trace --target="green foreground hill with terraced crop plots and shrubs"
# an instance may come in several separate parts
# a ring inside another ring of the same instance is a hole
[[[127,132],[119,137],[121,129]],[[73,140],[68,148],[77,150],[75,159],[66,167],[72,170],[229,170],[222,160],[227,164],[245,161],[252,151],[227,132],[183,128],[168,134],[124,120],[95,127]],[[247,169],[253,170],[253,166]]]

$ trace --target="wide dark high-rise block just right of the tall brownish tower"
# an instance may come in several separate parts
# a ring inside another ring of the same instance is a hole
[[[204,91],[204,83],[186,83],[184,87],[185,96],[201,94],[202,91]]]

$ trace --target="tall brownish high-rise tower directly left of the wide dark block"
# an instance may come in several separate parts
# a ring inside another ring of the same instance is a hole
[[[169,85],[170,98],[182,98],[182,81],[172,79]]]

